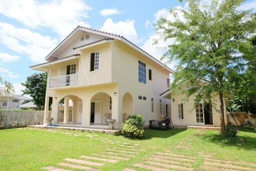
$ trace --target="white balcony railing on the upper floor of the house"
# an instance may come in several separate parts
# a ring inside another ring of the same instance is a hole
[[[78,83],[78,73],[49,78],[49,87],[74,85]]]

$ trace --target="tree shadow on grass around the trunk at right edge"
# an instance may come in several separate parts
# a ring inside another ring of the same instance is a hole
[[[210,143],[216,143],[221,146],[235,146],[237,148],[243,148],[248,150],[256,149],[256,131],[250,128],[240,127],[240,134],[235,138],[222,137],[220,133],[216,134],[204,134],[201,136],[203,141]],[[255,133],[255,136],[251,136],[250,133]]]

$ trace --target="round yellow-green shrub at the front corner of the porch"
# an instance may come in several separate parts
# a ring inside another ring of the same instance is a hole
[[[132,114],[121,124],[121,134],[125,137],[141,137],[145,120],[139,114]]]

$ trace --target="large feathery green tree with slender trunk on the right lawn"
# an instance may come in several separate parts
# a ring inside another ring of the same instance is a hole
[[[213,94],[217,94],[221,135],[225,132],[223,97],[234,88],[229,80],[255,60],[249,40],[256,29],[255,13],[237,10],[241,2],[211,0],[203,4],[201,0],[186,0],[187,10],[170,9],[174,19],[161,17],[156,23],[160,39],[176,41],[166,47],[162,56],[169,62],[178,60],[171,88],[181,89],[181,85],[188,83],[183,92],[186,96],[195,95],[195,105],[200,100],[211,101]]]

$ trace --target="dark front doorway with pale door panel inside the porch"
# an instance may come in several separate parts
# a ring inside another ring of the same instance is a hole
[[[101,123],[101,100],[92,101],[90,104],[90,122],[91,123]]]

